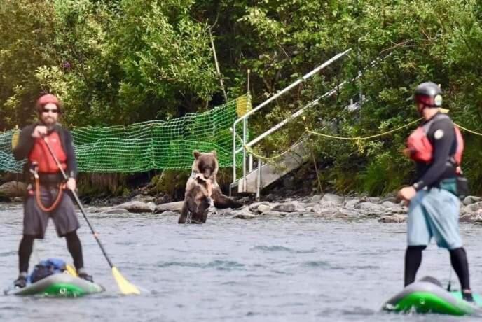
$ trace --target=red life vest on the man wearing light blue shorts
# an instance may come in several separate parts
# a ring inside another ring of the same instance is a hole
[[[436,120],[440,120],[441,118],[448,118],[445,114],[440,114],[439,116],[435,116],[432,120],[425,123],[424,125],[420,126],[415,130],[407,140],[407,148],[410,152],[410,158],[416,162],[425,162],[430,163],[433,159],[434,148],[427,137],[427,133],[430,130],[430,127]],[[462,134],[458,127],[454,126],[455,129],[455,139],[457,140],[457,149],[455,151],[455,155],[453,158],[457,165],[462,163],[462,153],[464,152],[464,139],[462,138]]]

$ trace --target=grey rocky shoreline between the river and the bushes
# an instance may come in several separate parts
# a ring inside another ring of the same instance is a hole
[[[25,183],[10,181],[0,186],[0,202],[21,202]],[[331,193],[307,197],[266,195],[265,200],[252,202],[242,197],[245,206],[240,209],[209,209],[209,216],[229,216],[235,219],[313,217],[361,219],[377,218],[381,223],[403,223],[407,207],[396,197],[353,197]],[[152,213],[158,216],[179,216],[183,202],[169,202],[171,198],[153,197],[139,193],[131,198],[114,197],[89,203],[92,212],[98,214]],[[109,204],[109,207],[102,205]],[[460,222],[482,223],[482,198],[468,196],[460,203]]]

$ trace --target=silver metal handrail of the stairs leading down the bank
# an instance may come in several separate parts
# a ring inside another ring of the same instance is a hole
[[[324,69],[326,66],[329,66],[330,64],[332,64],[333,62],[336,62],[336,60],[340,59],[341,57],[347,55],[348,52],[350,52],[352,50],[352,48],[349,48],[347,50],[345,50],[344,52],[340,52],[339,54],[331,57],[331,59],[327,60],[326,62],[324,62],[323,64],[317,66],[317,68],[313,69],[312,71],[310,71],[309,73],[307,73],[305,76],[303,76],[302,78],[299,78],[298,80],[296,80],[294,83],[292,83],[291,85],[285,87],[283,90],[281,90],[280,92],[277,92],[275,95],[273,95],[272,97],[270,97],[269,99],[266,99],[266,101],[264,101],[263,103],[259,104],[258,106],[256,106],[254,109],[252,109],[251,111],[247,112],[244,116],[241,116],[240,118],[238,118],[237,120],[235,120],[235,123],[233,124],[233,183],[236,181],[236,154],[239,153],[241,150],[243,151],[242,153],[242,173],[243,173],[243,177],[245,178],[246,177],[246,148],[245,148],[245,145],[246,145],[246,141],[247,141],[247,118],[249,116],[251,116],[252,114],[254,114],[256,111],[259,111],[260,109],[262,109],[264,106],[268,105],[270,102],[273,102],[273,100],[277,99],[277,97],[280,97],[282,94],[286,93],[286,92],[289,92],[289,90],[293,89],[294,87],[296,87],[297,85],[303,83],[305,80],[307,80],[308,78],[312,77],[313,75],[315,75],[315,73],[317,73],[318,71]],[[320,97],[321,99],[322,97]],[[317,100],[316,100],[317,101]],[[314,101],[315,102],[315,101]],[[308,106],[305,106],[305,108],[308,107]],[[303,108],[304,109],[304,108]],[[302,110],[303,110],[302,109]],[[295,114],[301,114],[302,111],[298,111],[296,112]],[[298,114],[298,115],[299,115]],[[296,115],[296,116],[298,116]],[[288,123],[289,120],[293,117],[296,117],[296,116],[291,116],[290,118],[288,118],[287,120],[283,121],[284,124]],[[241,147],[241,150],[237,151],[236,150],[236,125],[238,123],[242,122],[242,147]],[[281,124],[281,123],[280,123]],[[282,125],[280,125],[279,127],[282,127]],[[268,130],[267,132],[264,132],[263,134],[261,134],[259,137],[256,137],[254,140],[250,141],[249,144],[250,146],[255,144],[256,142],[258,142],[259,140],[263,139],[264,137],[266,137],[268,134],[272,133],[272,132],[275,132],[275,130],[277,130],[279,127],[275,126],[276,128],[272,128],[270,130]],[[274,129],[274,130],[273,130]],[[263,137],[261,137],[263,136]],[[260,138],[261,137],[261,138]],[[256,141],[255,141],[256,140]],[[246,187],[244,187],[246,188]]]

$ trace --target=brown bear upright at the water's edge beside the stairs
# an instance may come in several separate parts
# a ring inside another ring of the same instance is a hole
[[[193,151],[194,162],[191,176],[186,183],[186,194],[177,223],[205,223],[212,202],[216,208],[239,208],[237,202],[221,193],[216,181],[219,169],[216,151],[200,153]]]

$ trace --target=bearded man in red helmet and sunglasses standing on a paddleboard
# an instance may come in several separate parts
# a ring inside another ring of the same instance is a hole
[[[82,246],[76,232],[79,228],[76,210],[68,193],[63,193],[64,189],[76,189],[77,162],[70,132],[57,123],[61,108],[53,94],[40,97],[36,103],[39,122],[23,128],[18,144],[13,148],[15,159],[27,159],[25,174],[29,183],[24,203],[23,237],[18,250],[20,274],[14,283],[16,288],[26,286],[34,239],[43,239],[48,218],[53,219],[57,235],[67,240],[78,276],[92,281],[92,276],[83,268]],[[67,182],[64,182],[44,139],[69,176]]]

